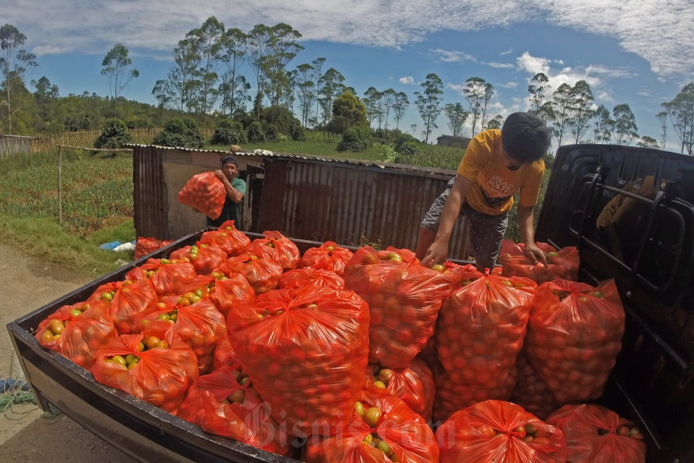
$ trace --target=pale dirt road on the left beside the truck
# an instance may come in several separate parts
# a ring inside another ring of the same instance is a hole
[[[0,244],[3,306],[0,308],[0,378],[22,378],[6,325],[22,315],[89,283],[92,278],[42,260],[27,258]],[[0,410],[0,461],[135,462],[65,415],[52,419],[36,405]]]

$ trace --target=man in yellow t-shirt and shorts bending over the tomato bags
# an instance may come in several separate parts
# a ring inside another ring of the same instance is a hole
[[[508,212],[519,192],[518,228],[525,255],[532,262],[547,264],[547,257],[535,244],[533,208],[540,194],[545,171],[542,156],[550,146],[550,132],[539,117],[529,112],[509,115],[501,130],[491,129],[468,144],[457,175],[437,217],[432,210],[423,220],[417,257],[431,266],[446,260],[450,233],[459,214],[470,221],[470,254],[478,270],[494,267],[508,226]],[[439,219],[439,221],[437,221]],[[440,223],[437,223],[440,222]]]

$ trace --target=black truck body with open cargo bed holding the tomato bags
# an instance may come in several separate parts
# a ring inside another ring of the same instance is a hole
[[[604,226],[609,222],[601,215],[604,210],[611,211],[611,230]],[[164,257],[193,244],[200,233],[148,257]],[[539,213],[536,240],[557,248],[577,246],[579,279],[586,283],[615,278],[627,314],[626,330],[599,402],[642,428],[648,462],[693,462],[694,158],[629,146],[562,146]],[[294,241],[302,252],[321,244]],[[205,434],[99,384],[85,369],[40,347],[33,337],[40,321],[62,305],[83,301],[99,285],[124,279],[142,263],[132,262],[8,323],[40,407],[56,405],[142,461],[296,461]]]

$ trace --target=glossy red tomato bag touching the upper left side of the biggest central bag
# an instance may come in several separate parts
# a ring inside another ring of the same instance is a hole
[[[153,308],[137,315],[137,324],[173,325],[185,344],[192,348],[201,373],[209,373],[214,365],[214,349],[226,336],[226,320],[214,304],[188,292],[181,296],[164,296]]]

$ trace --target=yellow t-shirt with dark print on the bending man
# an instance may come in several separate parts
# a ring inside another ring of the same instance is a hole
[[[537,204],[545,162],[540,158],[532,164],[521,165],[517,171],[510,171],[504,165],[501,131],[490,129],[471,140],[457,173],[473,182],[465,198],[471,208],[498,215],[511,209],[513,196],[518,191],[521,205]]]

